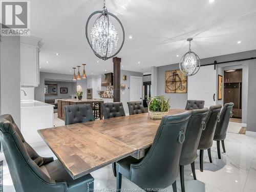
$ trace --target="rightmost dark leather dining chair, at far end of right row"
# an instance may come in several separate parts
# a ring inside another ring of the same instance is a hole
[[[234,103],[226,103],[223,106],[220,114],[220,122],[217,123],[214,140],[217,141],[218,158],[221,159],[220,141],[222,144],[223,152],[226,153],[224,140],[226,139],[227,127],[229,118],[232,116],[232,108]]]

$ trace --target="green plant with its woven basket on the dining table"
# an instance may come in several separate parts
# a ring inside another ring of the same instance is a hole
[[[168,114],[170,98],[167,100],[163,95],[156,96],[150,100],[148,104],[148,113],[152,119],[162,119],[164,115]]]

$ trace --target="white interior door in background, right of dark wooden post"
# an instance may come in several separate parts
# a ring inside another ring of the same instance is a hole
[[[142,77],[130,77],[130,101],[142,101]]]

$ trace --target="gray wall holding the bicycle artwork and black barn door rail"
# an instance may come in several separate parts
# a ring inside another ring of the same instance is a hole
[[[216,60],[217,62],[228,61],[228,60],[237,60],[243,58],[251,58],[256,57],[256,50],[245,51],[240,53],[233,53],[228,55],[221,55],[216,57],[204,58],[201,59],[201,65],[214,63]],[[239,65],[239,66],[238,66]],[[242,67],[240,66],[242,65]],[[246,69],[248,65],[248,70]],[[243,88],[247,88],[247,72],[248,72],[248,99],[246,93],[243,92],[243,109],[242,109],[242,116],[243,116],[243,123],[247,123],[247,130],[256,132],[256,119],[255,119],[255,109],[256,109],[256,102],[254,101],[256,98],[255,93],[255,82],[256,82],[256,60],[247,60],[247,61],[238,61],[232,62],[228,64],[221,64],[217,65],[217,74],[223,74],[222,70],[224,67],[227,66],[234,66],[237,69],[243,69]],[[218,69],[220,68],[220,69]],[[165,93],[164,90],[164,82],[165,82],[165,71],[167,70],[175,70],[179,69],[178,63],[173,65],[161,66],[157,68],[157,95],[164,95],[165,97],[170,97],[170,104],[172,108],[181,108],[183,109],[186,104],[187,94],[170,94]],[[224,76],[224,75],[223,75]],[[218,81],[217,81],[218,82]],[[189,86],[189,84],[187,85]],[[217,89],[217,88],[216,88]],[[217,103],[223,104],[223,100],[217,101]],[[248,103],[248,108],[247,108]],[[254,103],[254,104],[253,104]]]

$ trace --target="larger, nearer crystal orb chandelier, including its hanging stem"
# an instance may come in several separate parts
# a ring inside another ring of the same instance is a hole
[[[91,17],[95,14],[100,14],[96,21],[93,24],[92,30],[91,30],[91,40],[88,37],[88,24],[91,19]],[[119,35],[117,33],[117,30],[115,26],[112,24],[110,21],[110,16],[114,17],[117,22],[120,24],[122,28],[122,33],[123,33],[123,39],[120,48],[113,53],[113,49],[117,49],[118,45],[118,38]],[[103,10],[102,11],[95,11],[93,12],[86,23],[86,38],[87,41],[93,50],[94,54],[103,59],[107,60],[109,58],[112,58],[116,56],[120,50],[123,47],[124,44],[124,29],[123,25],[120,22],[120,20],[112,13],[108,12],[108,10],[105,7],[105,0],[103,1]]]

